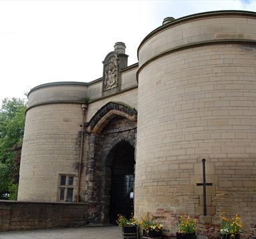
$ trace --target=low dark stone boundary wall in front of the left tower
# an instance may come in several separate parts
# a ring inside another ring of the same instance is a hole
[[[0,231],[95,223],[94,204],[0,201]]]

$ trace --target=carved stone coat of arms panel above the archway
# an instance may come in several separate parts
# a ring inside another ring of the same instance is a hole
[[[115,56],[112,56],[104,67],[104,90],[114,87],[118,87],[118,61]]]

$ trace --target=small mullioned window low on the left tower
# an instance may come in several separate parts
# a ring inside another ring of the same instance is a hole
[[[60,174],[58,201],[73,202],[73,194],[74,194],[74,175]]]

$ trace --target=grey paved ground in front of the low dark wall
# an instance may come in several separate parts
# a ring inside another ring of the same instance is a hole
[[[0,232],[0,239],[120,239],[118,226]]]

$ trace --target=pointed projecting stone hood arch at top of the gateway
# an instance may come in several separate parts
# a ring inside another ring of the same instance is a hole
[[[100,133],[104,126],[116,116],[124,117],[132,122],[137,121],[137,111],[120,103],[109,102],[104,105],[86,124],[88,132]]]

